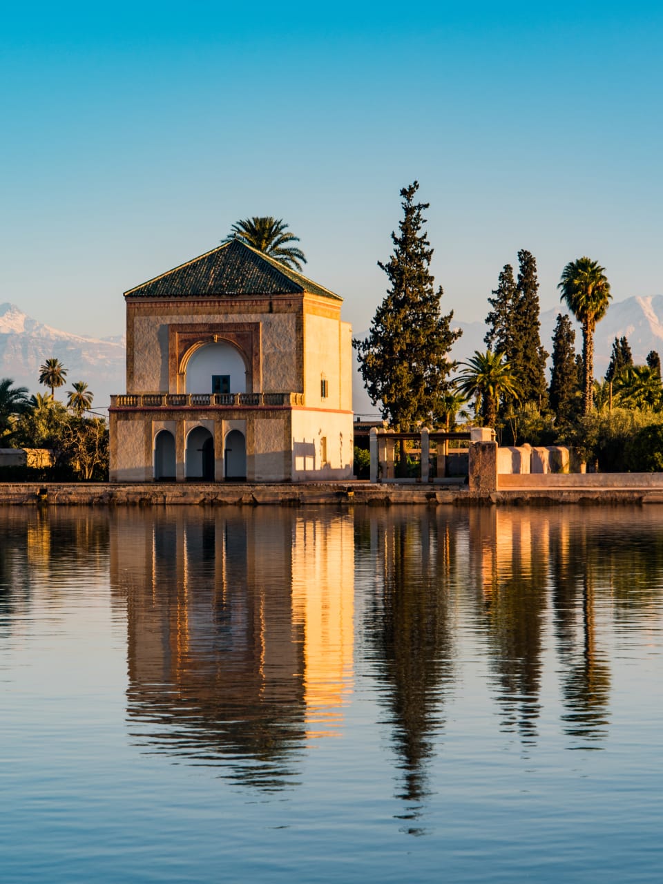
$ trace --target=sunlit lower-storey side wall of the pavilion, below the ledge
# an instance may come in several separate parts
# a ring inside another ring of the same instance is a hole
[[[352,413],[293,409],[293,482],[353,476]],[[323,462],[326,439],[327,459]]]

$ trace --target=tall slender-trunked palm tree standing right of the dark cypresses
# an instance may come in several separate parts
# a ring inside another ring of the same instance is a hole
[[[564,268],[557,287],[561,290],[560,301],[566,302],[583,328],[583,415],[589,415],[593,404],[594,329],[606,315],[612,297],[606,268],[591,258],[578,258]]]

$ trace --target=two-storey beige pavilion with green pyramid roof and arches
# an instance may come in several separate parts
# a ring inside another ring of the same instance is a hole
[[[125,299],[111,482],[352,477],[339,295],[232,240]]]

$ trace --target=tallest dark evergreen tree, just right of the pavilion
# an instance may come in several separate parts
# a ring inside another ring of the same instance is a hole
[[[400,191],[403,219],[392,233],[393,253],[378,262],[389,279],[384,301],[376,310],[366,339],[354,339],[360,371],[370,400],[401,431],[430,421],[449,390],[454,363],[448,353],[461,335],[452,331],[453,311],[440,314],[442,288],[435,290],[429,271],[429,240],[422,230],[428,202],[414,202],[415,181]]]

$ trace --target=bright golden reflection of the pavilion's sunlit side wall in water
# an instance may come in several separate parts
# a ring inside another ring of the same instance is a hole
[[[354,530],[347,515],[296,522],[293,623],[303,631],[307,736],[338,733],[354,676]]]

